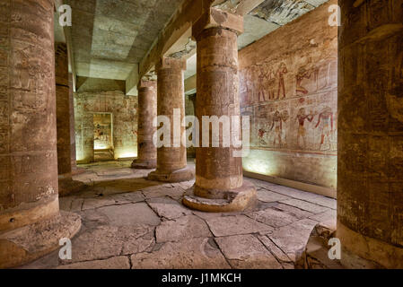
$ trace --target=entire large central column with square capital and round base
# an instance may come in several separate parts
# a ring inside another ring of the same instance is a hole
[[[188,191],[183,203],[207,212],[226,212],[245,209],[256,198],[256,190],[242,176],[242,159],[232,145],[232,133],[241,126],[232,126],[229,138],[226,129],[219,128],[219,146],[213,146],[213,125],[203,131],[203,117],[239,117],[240,95],[238,75],[237,35],[243,30],[241,16],[212,8],[193,25],[197,39],[197,97],[196,116],[200,123],[200,142],[209,136],[208,147],[196,148],[196,184]],[[218,130],[218,129],[217,129]],[[230,140],[230,146],[223,142]]]

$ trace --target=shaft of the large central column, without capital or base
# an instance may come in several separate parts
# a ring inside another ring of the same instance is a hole
[[[197,109],[196,116],[202,126],[202,118],[226,117],[231,125],[232,116],[240,116],[237,34],[232,30],[210,28],[197,38]],[[223,124],[220,124],[223,125]],[[242,159],[234,157],[231,128],[220,126],[219,147],[213,147],[213,125],[209,131],[200,130],[200,140],[210,135],[209,146],[196,149],[196,194],[203,189],[223,192],[242,186]],[[232,126],[239,132],[240,126]],[[228,131],[228,134],[225,132]],[[228,136],[229,135],[229,136]],[[223,147],[224,138],[230,147]],[[228,138],[229,137],[229,138]],[[238,149],[239,150],[239,149]],[[215,196],[220,196],[215,193]]]

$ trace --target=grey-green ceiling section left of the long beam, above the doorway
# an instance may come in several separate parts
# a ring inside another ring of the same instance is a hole
[[[126,80],[182,0],[66,0],[76,73]]]

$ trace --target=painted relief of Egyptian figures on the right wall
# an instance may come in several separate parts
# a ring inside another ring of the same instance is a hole
[[[252,148],[337,151],[337,57],[313,47],[243,67],[240,78]]]

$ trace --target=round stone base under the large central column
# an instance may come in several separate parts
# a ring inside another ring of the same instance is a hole
[[[191,209],[206,213],[230,213],[241,212],[256,203],[256,188],[247,180],[243,181],[242,187],[227,191],[226,199],[211,199],[194,194],[195,186],[190,187],[182,203]]]

